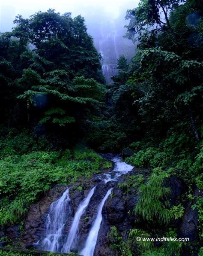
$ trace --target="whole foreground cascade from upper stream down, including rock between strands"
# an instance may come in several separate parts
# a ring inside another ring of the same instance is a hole
[[[114,157],[111,161],[115,163],[113,170],[96,176],[98,180],[96,186],[90,189],[87,196],[78,204],[73,217],[71,217],[73,202],[69,198],[70,188],[66,189],[63,195],[50,205],[45,218],[45,238],[42,239],[42,242],[39,241],[38,248],[63,253],[76,250],[84,256],[94,255],[103,221],[102,212],[113,186],[122,174],[133,169],[133,166],[122,162],[119,157]],[[84,232],[83,226],[80,226],[81,217],[85,212],[86,214],[91,213],[88,216],[90,223],[86,230],[88,232],[81,234],[80,232]]]

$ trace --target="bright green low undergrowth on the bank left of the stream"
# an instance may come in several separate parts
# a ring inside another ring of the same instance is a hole
[[[100,172],[100,168],[111,167],[109,161],[84,146],[72,151],[46,151],[42,143],[41,146],[39,141],[31,141],[31,135],[27,141],[27,134],[19,133],[13,140],[18,142],[20,137],[24,145],[20,148],[21,144],[16,147],[10,136],[1,141],[0,225],[18,222],[30,204],[52,186],[70,184],[81,177],[90,178]],[[25,153],[30,149],[31,152]]]

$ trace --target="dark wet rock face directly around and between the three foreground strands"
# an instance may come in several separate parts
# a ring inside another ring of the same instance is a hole
[[[134,174],[134,171],[132,171],[129,175],[132,174]],[[124,176],[126,177],[128,176],[128,174],[119,177],[119,183],[125,182],[123,180]],[[79,204],[84,198],[87,197],[90,189],[92,189],[93,186],[96,186],[95,192],[92,196],[92,200],[90,201],[90,204],[81,216],[79,223],[79,241],[78,244],[75,246],[77,249],[73,248],[73,250],[74,252],[80,252],[80,250],[84,247],[87,236],[90,232],[94,220],[96,219],[96,213],[99,204],[101,203],[108,189],[113,187],[112,197],[110,196],[108,198],[102,209],[103,218],[99,229],[99,235],[95,249],[95,255],[111,255],[111,251],[107,247],[107,233],[109,232],[110,227],[115,225],[118,227],[118,231],[122,234],[124,234],[124,231],[132,227],[131,217],[128,212],[132,213],[133,211],[135,202],[134,195],[133,193],[131,195],[124,195],[122,189],[119,189],[117,187],[117,182],[110,182],[104,184],[104,182],[98,183],[98,181],[93,178],[89,183],[90,187],[82,191],[78,191],[77,189],[75,189],[74,185],[72,187],[69,187],[69,195],[71,198],[71,216],[67,220],[64,227],[64,236],[67,237],[69,234],[69,230],[71,228],[71,224]],[[25,219],[24,234],[21,238],[24,247],[27,247],[27,245],[29,245],[29,247],[34,246],[40,249],[40,247],[38,247],[36,243],[37,241],[39,241],[39,239],[42,240],[45,235],[44,227],[46,213],[48,213],[51,203],[60,198],[66,188],[66,186],[55,186],[48,192],[48,195],[42,198],[39,204],[36,203],[31,206],[27,218]],[[13,229],[13,227],[11,229]],[[101,250],[103,250],[103,254],[101,254]]]

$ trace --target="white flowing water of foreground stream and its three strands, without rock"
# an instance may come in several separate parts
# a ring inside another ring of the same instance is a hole
[[[112,158],[111,161],[115,163],[115,166],[112,171],[98,176],[99,180],[101,180],[100,183],[105,184],[108,182],[116,181],[122,174],[126,174],[128,171],[133,169],[133,166],[122,162],[121,158],[119,157]],[[95,216],[93,216],[94,221],[86,238],[84,248],[80,252],[84,256],[94,255],[94,250],[99,235],[99,229],[102,222],[102,209],[112,189],[113,187],[108,189],[107,193],[104,195],[104,198],[99,204]],[[71,199],[69,198],[69,189],[66,189],[61,198],[51,204],[49,213],[47,214],[45,220],[46,237],[43,239],[40,249],[69,253],[72,248],[78,248],[78,243],[80,240],[80,219],[90,204],[90,201],[93,200],[92,196],[95,191],[96,186],[90,190],[87,197],[84,198],[79,204],[68,235],[66,235],[64,227],[69,219],[69,216],[71,215]]]

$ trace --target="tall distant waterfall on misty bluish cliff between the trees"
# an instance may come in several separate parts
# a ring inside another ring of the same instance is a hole
[[[111,77],[118,73],[116,65],[119,55],[124,55],[128,61],[134,55],[134,44],[131,40],[123,38],[126,33],[124,25],[125,21],[105,19],[95,25],[91,23],[88,28],[88,32],[93,36],[96,49],[102,56],[102,73],[107,83],[111,83]]]

